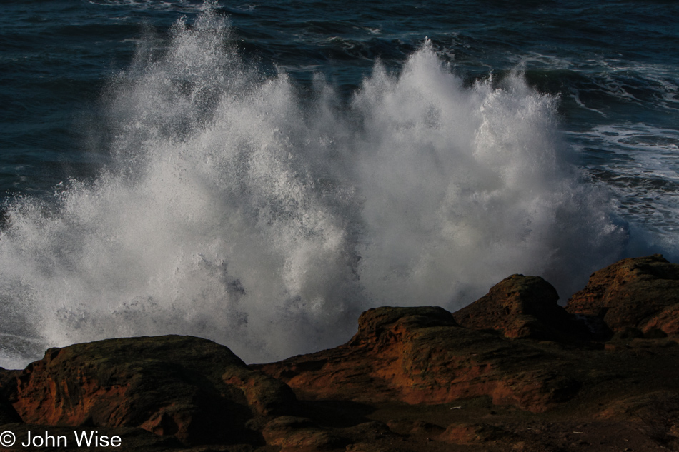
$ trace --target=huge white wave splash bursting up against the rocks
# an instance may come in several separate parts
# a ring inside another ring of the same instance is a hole
[[[454,310],[512,273],[568,296],[620,256],[557,99],[519,74],[465,86],[425,42],[346,101],[322,76],[262,75],[228,34],[205,11],[165,54],[142,45],[105,96],[107,169],[11,204],[4,365],[162,333],[269,361],[346,341],[366,308]]]

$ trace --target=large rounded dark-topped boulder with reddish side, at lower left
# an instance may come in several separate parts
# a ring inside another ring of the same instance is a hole
[[[291,410],[295,396],[224,346],[160,336],[51,348],[9,401],[26,423],[141,427],[195,444],[252,441],[247,421]]]

